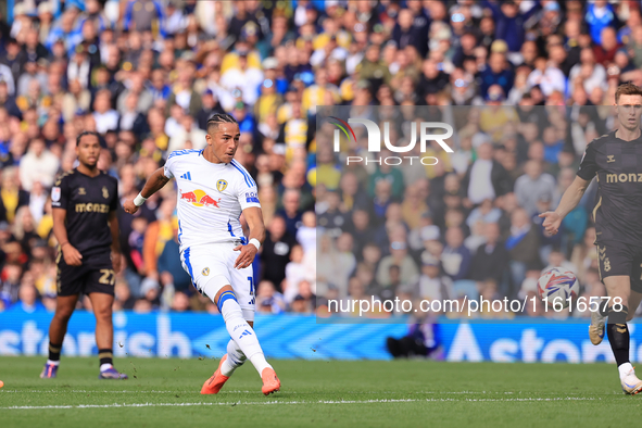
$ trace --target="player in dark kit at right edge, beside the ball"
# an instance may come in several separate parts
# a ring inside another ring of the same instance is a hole
[[[617,130],[587,146],[575,181],[564,192],[554,212],[540,214],[543,226],[556,234],[566,214],[577,206],[587,187],[597,176],[593,210],[600,276],[609,300],[591,304],[589,336],[593,344],[604,338],[604,325],[617,362],[622,390],[642,390],[629,362],[629,329],[642,301],[642,89],[620,85],[615,92]]]

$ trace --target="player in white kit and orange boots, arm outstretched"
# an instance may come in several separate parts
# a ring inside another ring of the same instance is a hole
[[[265,238],[265,226],[256,184],[234,160],[239,138],[239,124],[232,116],[213,115],[207,121],[205,149],[172,152],[165,166],[156,169],[142,191],[123,207],[127,213],[136,213],[147,198],[176,178],[182,268],[199,292],[218,306],[231,337],[227,354],[201,393],[217,393],[234,370],[250,360],[267,395],[280,389],[280,381],[265,361],[252,328],[252,262]],[[241,213],[250,228],[248,239],[239,222]]]

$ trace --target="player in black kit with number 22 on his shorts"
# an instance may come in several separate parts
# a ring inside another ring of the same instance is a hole
[[[49,360],[41,378],[54,378],[67,323],[80,293],[89,295],[96,315],[99,379],[127,379],[112,365],[112,304],[115,275],[121,267],[118,182],[97,167],[100,141],[84,131],[76,139],[79,165],[51,189],[53,234],[59,242],[58,299],[49,326]]]

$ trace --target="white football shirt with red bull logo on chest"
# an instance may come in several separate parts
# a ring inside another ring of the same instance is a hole
[[[241,241],[239,217],[244,209],[261,207],[256,182],[237,161],[215,164],[201,150],[176,150],[165,163],[165,177],[178,188],[180,251],[192,246]]]

